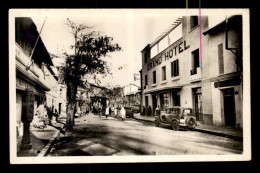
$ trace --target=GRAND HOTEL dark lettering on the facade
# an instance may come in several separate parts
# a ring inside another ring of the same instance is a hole
[[[147,64],[147,70],[149,71],[153,67],[160,65],[162,61],[167,61],[171,59],[173,56],[177,56],[177,54],[182,53],[184,50],[187,50],[190,46],[186,44],[186,40],[179,41],[176,44],[173,44],[165,51],[159,54],[159,56],[154,57],[151,59]]]

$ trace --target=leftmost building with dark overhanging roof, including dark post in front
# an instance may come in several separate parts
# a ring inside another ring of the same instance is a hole
[[[30,125],[35,115],[43,114],[45,94],[51,90],[45,80],[43,68],[53,64],[31,18],[15,18],[15,51],[16,127],[19,151],[32,147]]]

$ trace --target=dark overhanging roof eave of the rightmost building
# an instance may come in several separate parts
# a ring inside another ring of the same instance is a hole
[[[233,15],[228,17],[228,22],[231,23],[231,25],[233,24],[242,24],[242,16],[241,15]],[[225,27],[226,24],[226,20],[221,21],[220,23],[216,24],[215,26],[209,28],[208,30],[206,30],[205,32],[203,32],[203,35],[207,35],[207,34],[212,34],[215,33],[217,31],[219,31],[220,29],[222,29],[223,27]]]

